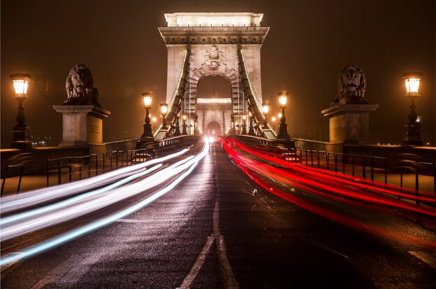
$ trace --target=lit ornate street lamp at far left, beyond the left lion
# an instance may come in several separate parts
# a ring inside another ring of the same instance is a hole
[[[24,117],[24,100],[28,99],[27,88],[29,87],[29,74],[12,74],[10,79],[14,85],[14,98],[18,101],[17,124],[13,127],[13,142],[10,145],[13,149],[31,149],[29,126],[26,126]]]

